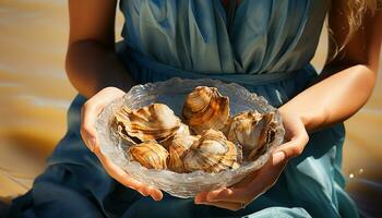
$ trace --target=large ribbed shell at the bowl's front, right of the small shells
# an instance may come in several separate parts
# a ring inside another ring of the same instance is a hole
[[[238,147],[227,141],[220,131],[210,129],[190,147],[183,159],[184,169],[205,172],[237,169],[239,154]]]

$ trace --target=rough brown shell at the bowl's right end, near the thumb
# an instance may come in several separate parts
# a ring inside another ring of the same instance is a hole
[[[228,122],[225,128],[227,138],[242,146],[246,160],[253,160],[273,142],[277,124],[274,116],[274,112],[243,111]]]

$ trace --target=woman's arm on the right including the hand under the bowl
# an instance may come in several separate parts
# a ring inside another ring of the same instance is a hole
[[[336,31],[335,37],[341,44],[346,34],[346,29],[341,33],[341,22],[346,20],[333,15],[330,20],[331,28]],[[346,46],[345,55],[338,55],[336,60],[326,65],[314,85],[279,108],[286,142],[273,153],[270,161],[230,187],[199,193],[195,204],[231,210],[243,208],[277,181],[290,158],[302,153],[309,140],[307,131],[313,132],[343,121],[359,110],[375,83],[382,38],[380,26],[382,15],[378,12],[373,19],[366,21],[365,31],[358,32]]]

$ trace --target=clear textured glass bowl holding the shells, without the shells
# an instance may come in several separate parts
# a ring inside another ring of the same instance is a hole
[[[135,161],[130,161],[129,156],[126,154],[128,145],[123,144],[119,135],[110,128],[114,112],[121,106],[136,109],[153,102],[163,102],[169,106],[178,117],[181,117],[186,96],[194,87],[201,85],[216,87],[222,95],[228,96],[231,116],[244,110],[258,110],[261,113],[276,112],[275,119],[278,121],[279,126],[277,126],[275,140],[265,153],[256,160],[243,164],[238,169],[225,170],[218,173],[203,171],[177,173],[169,170],[146,169]],[[235,83],[226,84],[220,81],[205,78],[171,78],[166,82],[136,85],[123,98],[116,99],[104,109],[96,122],[96,130],[102,153],[110,158],[115,165],[128,172],[132,178],[182,198],[194,197],[202,191],[230,186],[250,172],[258,170],[268,160],[272,150],[282,144],[285,134],[279,113],[263,97],[250,93]]]

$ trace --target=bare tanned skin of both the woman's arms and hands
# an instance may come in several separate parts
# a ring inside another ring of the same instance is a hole
[[[333,9],[346,1],[335,1]],[[132,179],[106,158],[98,147],[94,122],[103,108],[120,98],[134,82],[115,52],[116,1],[69,1],[70,39],[67,73],[80,94],[88,98],[81,112],[81,135],[99,158],[110,177],[155,201],[160,190]],[[330,14],[334,38],[342,44],[347,33],[346,13]],[[238,210],[268,190],[288,160],[300,155],[309,141],[308,133],[342,122],[356,113],[368,100],[375,84],[382,33],[382,13],[367,14],[363,26],[342,53],[326,63],[319,80],[279,108],[286,129],[286,142],[274,152],[260,170],[230,187],[200,193],[195,204]],[[333,49],[333,45],[330,45]],[[349,100],[350,99],[350,100]],[[262,181],[259,183],[258,181]]]

